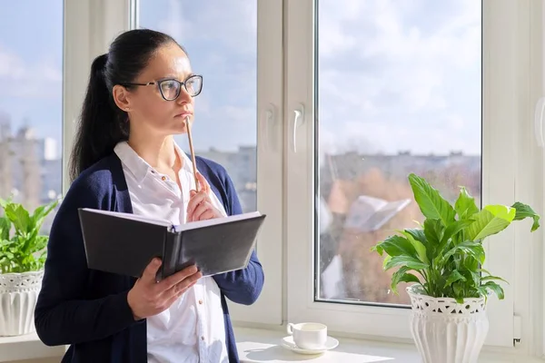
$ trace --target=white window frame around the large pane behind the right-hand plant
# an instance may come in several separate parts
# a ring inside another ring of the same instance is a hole
[[[410,309],[315,302],[314,285],[314,1],[286,3],[286,212],[287,320],[318,320],[334,331],[382,338],[411,338]],[[527,2],[485,0],[483,4],[482,83],[482,201],[511,204],[519,197],[517,165],[525,156],[513,152],[518,128],[513,120],[525,114],[525,86],[520,82],[520,58],[516,55],[520,12]],[[519,91],[519,92],[518,92]],[[294,112],[304,107],[302,122],[294,124]],[[294,152],[293,143],[297,150]],[[506,147],[505,145],[512,145]],[[496,177],[501,175],[501,177]],[[531,202],[525,200],[527,202]],[[524,226],[526,228],[528,226]],[[515,234],[515,231],[519,231]],[[515,295],[515,246],[523,244],[522,229],[511,227],[486,242],[486,268],[510,281],[504,300],[490,299],[490,333],[486,344],[512,347]],[[513,243],[516,240],[517,243]]]

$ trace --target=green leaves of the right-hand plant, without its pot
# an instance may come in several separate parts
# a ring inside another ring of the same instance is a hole
[[[503,299],[502,280],[481,268],[485,260],[482,241],[503,231],[511,221],[533,219],[531,231],[540,228],[540,216],[530,206],[487,205],[480,211],[464,187],[454,205],[441,197],[423,178],[411,174],[409,182],[424,215],[420,228],[398,231],[372,247],[384,258],[384,270],[399,268],[391,277],[397,293],[400,282],[416,282],[422,293],[434,298],[488,297]],[[415,272],[414,273],[411,273]],[[417,276],[419,275],[419,276]],[[505,280],[502,280],[505,281]]]

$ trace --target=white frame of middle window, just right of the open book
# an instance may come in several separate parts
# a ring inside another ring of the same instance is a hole
[[[265,282],[250,306],[229,301],[233,324],[282,324],[282,0],[257,1],[257,210],[266,214],[257,240]]]

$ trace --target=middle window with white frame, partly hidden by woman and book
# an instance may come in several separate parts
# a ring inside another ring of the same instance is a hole
[[[282,150],[278,109],[282,102],[282,32],[260,23],[267,43],[258,47],[258,18],[280,15],[281,2],[213,0],[140,0],[138,26],[170,34],[186,49],[193,72],[203,74],[203,92],[195,99],[192,129],[196,155],[219,162],[233,180],[243,211],[267,214],[258,240],[258,256],[265,268],[282,269]],[[280,29],[282,30],[282,29]],[[266,84],[266,87],[264,86]],[[260,87],[261,86],[261,87]],[[268,100],[271,104],[264,104]],[[189,152],[187,137],[176,142]],[[258,165],[267,165],[259,169]],[[267,191],[264,194],[262,191]],[[234,319],[280,323],[282,276],[267,276],[260,300],[251,308],[236,305]],[[237,311],[241,309],[240,312]],[[267,313],[267,311],[269,313]]]

